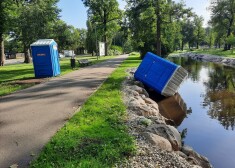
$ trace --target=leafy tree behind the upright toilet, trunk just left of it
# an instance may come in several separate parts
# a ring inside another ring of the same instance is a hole
[[[51,34],[50,24],[58,20],[60,10],[58,0],[37,0],[23,2],[19,7],[19,36],[23,43],[25,63],[30,62],[30,44],[38,39],[48,38]]]

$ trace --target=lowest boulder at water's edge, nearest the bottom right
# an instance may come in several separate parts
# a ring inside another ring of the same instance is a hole
[[[182,152],[188,156],[187,161],[191,164],[201,166],[203,168],[211,168],[212,166],[209,163],[209,160],[198,154],[190,146],[183,146]]]

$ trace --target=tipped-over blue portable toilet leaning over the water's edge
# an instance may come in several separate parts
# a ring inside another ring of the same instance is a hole
[[[134,76],[156,92],[168,97],[178,91],[188,73],[181,66],[148,52]]]

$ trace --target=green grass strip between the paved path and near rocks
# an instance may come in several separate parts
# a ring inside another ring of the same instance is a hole
[[[31,167],[113,167],[133,155],[136,147],[124,124],[126,108],[120,90],[125,70],[139,63],[138,55],[124,61],[57,132]]]

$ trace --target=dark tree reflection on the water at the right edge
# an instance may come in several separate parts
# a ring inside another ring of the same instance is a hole
[[[217,119],[225,129],[235,126],[235,75],[234,68],[213,65],[209,71],[209,80],[204,82],[206,93],[204,106],[208,106],[208,115]]]

